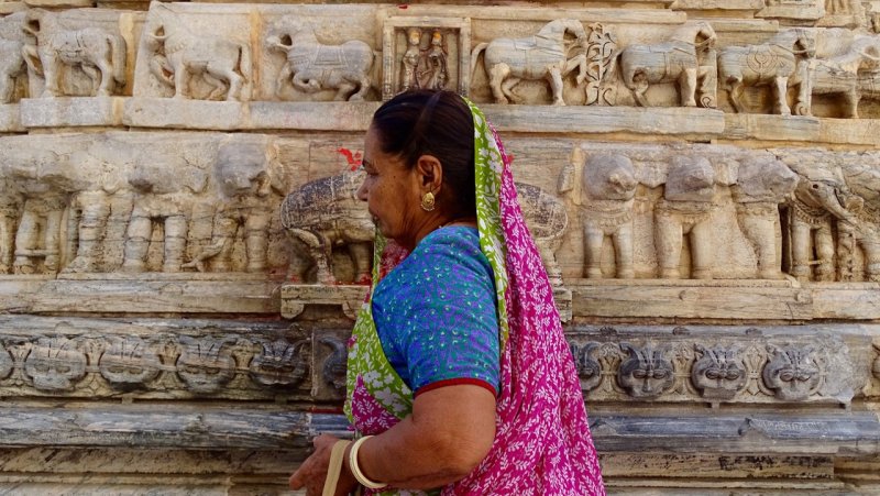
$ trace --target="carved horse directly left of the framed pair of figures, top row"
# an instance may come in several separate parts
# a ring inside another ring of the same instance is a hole
[[[270,48],[287,55],[278,78],[276,93],[292,79],[294,88],[307,93],[336,88],[334,100],[363,100],[370,91],[373,48],[352,40],[341,45],[324,45],[315,32],[300,23],[286,22],[284,27],[266,40]]]

